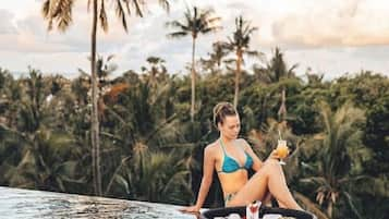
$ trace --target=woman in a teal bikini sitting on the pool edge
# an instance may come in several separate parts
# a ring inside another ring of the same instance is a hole
[[[262,162],[246,141],[238,138],[241,129],[236,109],[229,102],[220,102],[214,108],[214,124],[220,137],[209,144],[204,151],[204,172],[196,204],[182,210],[199,211],[217,171],[227,207],[244,206],[253,200],[264,200],[270,193],[281,207],[301,210],[290,193],[277,151]],[[256,173],[248,179],[248,169]]]

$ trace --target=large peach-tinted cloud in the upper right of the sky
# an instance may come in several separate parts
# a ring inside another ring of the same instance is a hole
[[[389,44],[388,5],[372,1],[315,1],[272,24],[273,41],[285,47],[339,47]]]

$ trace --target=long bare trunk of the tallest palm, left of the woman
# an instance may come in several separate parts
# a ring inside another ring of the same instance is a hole
[[[100,141],[99,141],[99,121],[98,121],[98,88],[96,75],[96,35],[97,35],[97,0],[93,1],[93,24],[92,24],[92,51],[90,51],[90,70],[92,70],[92,168],[94,188],[96,195],[101,195],[101,177],[100,177]]]

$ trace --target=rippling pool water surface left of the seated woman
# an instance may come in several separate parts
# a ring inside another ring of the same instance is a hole
[[[0,186],[0,218],[196,219],[181,206]]]

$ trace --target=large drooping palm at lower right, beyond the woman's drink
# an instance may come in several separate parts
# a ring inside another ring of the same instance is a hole
[[[348,204],[357,218],[362,218],[350,190],[353,185],[361,185],[365,179],[350,174],[353,168],[350,151],[362,144],[363,133],[357,126],[365,119],[364,112],[350,102],[336,112],[326,102],[321,102],[319,108],[324,132],[315,136],[320,148],[317,151],[318,162],[309,166],[314,175],[301,179],[301,182],[316,187],[316,200],[326,208],[329,218],[335,217],[340,199]]]

